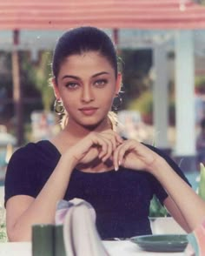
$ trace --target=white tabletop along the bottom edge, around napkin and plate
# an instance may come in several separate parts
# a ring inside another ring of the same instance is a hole
[[[142,251],[130,241],[103,241],[110,256],[184,256],[184,253],[152,253]],[[31,243],[1,243],[0,256],[31,256]],[[86,256],[86,255],[85,255]]]

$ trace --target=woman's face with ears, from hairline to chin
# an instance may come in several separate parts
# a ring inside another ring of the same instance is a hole
[[[69,113],[69,125],[96,126],[107,122],[113,98],[120,90],[121,75],[96,51],[66,57],[61,65],[56,98]]]

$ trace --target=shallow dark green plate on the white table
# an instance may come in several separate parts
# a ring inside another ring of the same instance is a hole
[[[183,252],[188,245],[186,234],[144,235],[130,240],[149,252]]]

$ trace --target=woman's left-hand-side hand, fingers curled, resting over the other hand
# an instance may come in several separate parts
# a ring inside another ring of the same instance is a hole
[[[92,131],[76,145],[70,147],[67,153],[73,158],[75,165],[89,164],[96,158],[105,162],[112,158],[113,152],[122,142],[123,139],[116,131]]]

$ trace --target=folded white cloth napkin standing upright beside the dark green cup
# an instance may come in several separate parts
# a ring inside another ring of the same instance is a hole
[[[65,205],[65,201],[60,203]],[[109,256],[96,230],[93,207],[83,199],[72,199],[66,203],[67,210],[61,209],[63,210],[63,239],[66,255]]]

